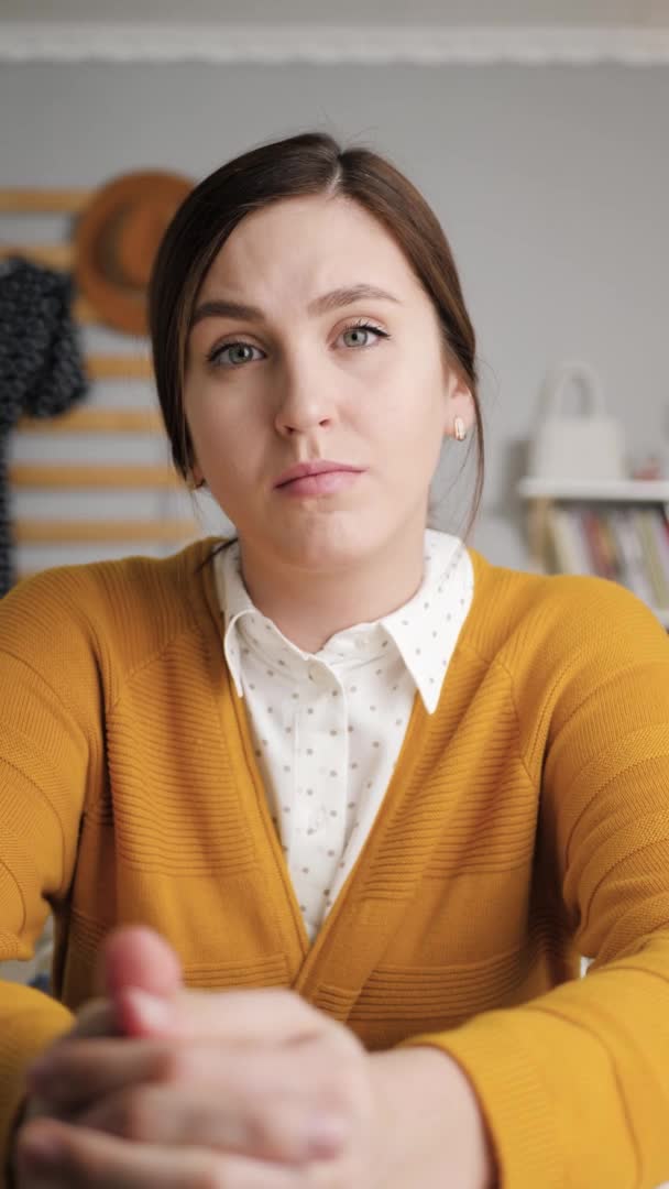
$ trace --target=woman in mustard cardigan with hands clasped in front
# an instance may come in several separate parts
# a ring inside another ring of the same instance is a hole
[[[238,536],[0,606],[2,957],[57,923],[55,998],[2,993],[17,1183],[650,1189],[669,647],[425,528],[442,442],[482,460],[434,214],[265,145],[175,216],[150,320]]]

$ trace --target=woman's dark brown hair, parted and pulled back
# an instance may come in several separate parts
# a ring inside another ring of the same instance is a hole
[[[163,237],[149,287],[149,327],[175,467],[185,478],[193,463],[183,385],[190,322],[207,271],[245,215],[307,194],[340,194],[374,215],[433,302],[447,358],[474,400],[476,480],[468,530],[482,491],[484,434],[475,334],[448,240],[422,194],[390,162],[368,149],[345,150],[321,132],[260,145],[222,165],[188,195]]]

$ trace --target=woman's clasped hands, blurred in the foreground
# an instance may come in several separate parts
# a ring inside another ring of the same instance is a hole
[[[187,990],[122,927],[103,998],[29,1070],[18,1189],[484,1189],[465,1075],[431,1048],[368,1053],[282,989]]]

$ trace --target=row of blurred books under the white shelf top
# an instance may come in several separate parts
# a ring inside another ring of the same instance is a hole
[[[553,568],[608,578],[669,609],[668,505],[556,503],[547,527]]]

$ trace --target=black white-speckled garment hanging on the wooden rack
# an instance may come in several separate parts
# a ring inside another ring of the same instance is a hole
[[[0,597],[14,581],[7,446],[19,417],[52,417],[88,390],[72,279],[12,257],[0,269]]]

